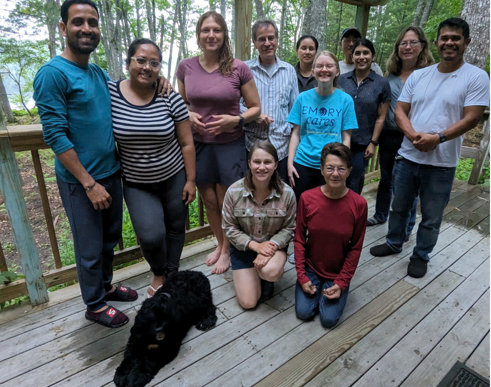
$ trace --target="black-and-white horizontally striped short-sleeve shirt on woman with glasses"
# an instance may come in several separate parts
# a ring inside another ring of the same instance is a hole
[[[155,93],[147,105],[132,105],[121,93],[120,82],[108,84],[123,176],[139,183],[163,181],[184,167],[174,122],[189,118],[186,105],[174,91],[169,97]]]

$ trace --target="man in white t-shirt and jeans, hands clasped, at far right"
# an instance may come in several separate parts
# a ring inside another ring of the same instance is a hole
[[[414,71],[396,106],[396,123],[406,137],[392,174],[394,201],[386,243],[370,253],[386,256],[402,250],[408,214],[419,191],[422,220],[408,265],[408,275],[415,278],[425,275],[438,240],[464,133],[477,125],[489,105],[489,77],[463,60],[469,42],[464,20],[440,23],[435,44],[442,61]]]

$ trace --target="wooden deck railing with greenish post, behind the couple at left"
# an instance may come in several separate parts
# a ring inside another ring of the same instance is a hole
[[[49,148],[43,141],[41,125],[23,125],[6,127],[0,112],[0,191],[2,191],[10,226],[21,260],[24,279],[6,285],[0,285],[0,303],[29,295],[32,305],[48,301],[47,288],[77,278],[75,264],[62,266],[55,228],[49,206],[44,174],[39,158],[39,149]],[[19,175],[17,173],[14,152],[30,151],[39,195],[43,205],[46,228],[48,230],[55,269],[43,274],[38,257],[34,235],[29,222],[26,204],[22,193]],[[198,197],[198,227],[189,229],[189,219],[186,222],[185,242],[191,242],[212,235],[210,225],[205,224],[203,201]],[[113,266],[127,263],[142,257],[140,246],[123,249],[122,240],[119,251],[115,253]],[[7,263],[0,244],[0,272],[7,271]]]

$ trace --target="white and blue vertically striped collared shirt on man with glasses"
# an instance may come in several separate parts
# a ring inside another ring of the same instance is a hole
[[[280,160],[288,156],[291,125],[286,122],[288,113],[299,95],[297,73],[293,66],[276,57],[278,67],[272,76],[269,76],[262,66],[259,58],[247,60],[254,75],[259,99],[261,100],[261,113],[267,114],[274,121],[268,127],[258,125],[252,121],[244,125],[246,148],[258,141],[269,141],[276,148]],[[247,110],[244,99],[241,99],[241,113]]]

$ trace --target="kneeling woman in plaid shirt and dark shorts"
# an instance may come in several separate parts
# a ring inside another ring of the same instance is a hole
[[[235,293],[245,309],[270,298],[273,283],[283,276],[297,208],[293,190],[278,175],[278,154],[269,142],[254,144],[248,162],[246,177],[228,188],[222,210]]]

